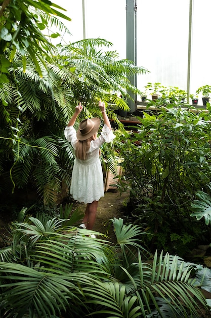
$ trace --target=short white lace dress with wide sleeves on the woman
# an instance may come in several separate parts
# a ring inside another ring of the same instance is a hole
[[[66,126],[64,135],[75,149],[77,138],[74,127]],[[75,158],[70,186],[70,194],[74,200],[92,203],[104,197],[103,171],[99,149],[104,142],[110,142],[114,138],[113,132],[104,124],[101,135],[90,143],[88,158],[86,160]]]

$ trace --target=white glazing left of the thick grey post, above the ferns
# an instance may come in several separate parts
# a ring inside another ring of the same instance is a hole
[[[65,35],[66,43],[83,39],[82,0],[55,0],[65,8],[72,21],[63,21],[72,36]],[[86,38],[101,38],[113,44],[109,50],[126,57],[126,0],[85,0]]]

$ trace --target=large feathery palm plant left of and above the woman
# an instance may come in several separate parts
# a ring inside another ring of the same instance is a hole
[[[43,77],[29,56],[24,72],[21,55],[15,55],[10,83],[0,87],[0,190],[11,194],[16,186],[32,188],[46,204],[57,202],[57,194],[71,180],[73,153],[63,135],[78,101],[85,106],[80,119],[101,116],[96,107],[99,99],[112,98],[117,107],[124,107],[125,102],[111,91],[137,91],[126,75],[145,70],[131,61],[115,60],[117,53],[97,51],[95,47],[101,45],[110,43],[90,39],[73,43],[66,51],[59,48],[54,63],[46,60],[46,67],[39,63]],[[123,129],[112,110],[108,115]],[[114,172],[114,148],[104,146],[102,154],[108,156],[108,169]]]

